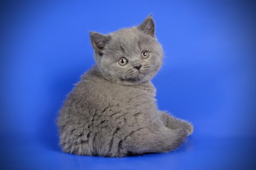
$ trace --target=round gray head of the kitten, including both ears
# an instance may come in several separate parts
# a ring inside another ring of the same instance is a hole
[[[90,32],[90,39],[97,68],[109,81],[140,84],[154,77],[162,65],[163,50],[151,15],[139,26],[108,35]]]

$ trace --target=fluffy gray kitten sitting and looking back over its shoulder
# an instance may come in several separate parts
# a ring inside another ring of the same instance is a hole
[[[150,79],[162,65],[163,50],[152,16],[108,35],[91,32],[90,39],[96,64],[75,85],[58,115],[63,151],[124,157],[180,146],[193,126],[157,110]]]

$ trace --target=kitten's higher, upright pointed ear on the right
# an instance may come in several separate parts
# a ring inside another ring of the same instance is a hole
[[[152,15],[149,15],[139,26],[138,29],[143,31],[144,33],[155,36],[155,22],[153,20]]]

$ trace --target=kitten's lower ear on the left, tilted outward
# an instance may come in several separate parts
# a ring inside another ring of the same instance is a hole
[[[106,46],[107,42],[110,40],[110,36],[103,35],[97,32],[90,32],[90,39],[94,51],[100,56],[103,55],[102,51]]]

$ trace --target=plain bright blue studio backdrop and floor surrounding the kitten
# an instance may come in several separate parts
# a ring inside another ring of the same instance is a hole
[[[55,119],[92,64],[89,31],[139,25],[150,13],[165,52],[159,109],[191,121],[175,152],[68,155]],[[21,170],[255,169],[256,23],[247,0],[0,2],[0,168]]]

